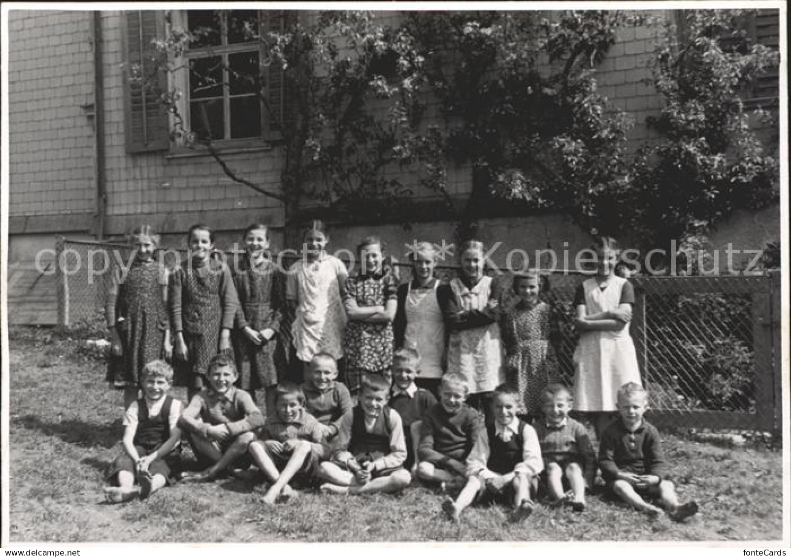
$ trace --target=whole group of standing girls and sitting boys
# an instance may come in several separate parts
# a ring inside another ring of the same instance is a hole
[[[480,242],[461,246],[460,274],[448,283],[433,275],[433,246],[417,244],[413,278],[399,285],[377,237],[361,243],[361,271],[348,276],[327,254],[320,222],[288,271],[268,256],[264,225],[245,231],[246,256],[233,269],[214,257],[206,226],[191,227],[187,259],[169,275],[153,258],[158,240],[147,226],[134,230],[136,256],[108,301],[108,380],[124,389],[126,408],[124,454],[105,488],[112,502],[165,486],[184,435],[201,471],[178,479],[255,464],[267,504],[292,497],[294,481],[392,492],[416,476],[456,494],[442,503],[453,520],[472,502],[502,498],[522,520],[539,484],[582,511],[597,460],[585,426],[568,416],[574,407],[596,418],[608,492],[654,515],[663,511],[642,496],[658,498],[676,520],[697,512],[676,501],[657,430],[642,419],[647,395],[628,332],[634,294],[613,272],[611,239],[575,295],[573,394],[556,382],[543,278],[517,275],[500,290],[483,275]],[[172,385],[187,387],[184,411]],[[620,418],[607,425],[616,407]]]

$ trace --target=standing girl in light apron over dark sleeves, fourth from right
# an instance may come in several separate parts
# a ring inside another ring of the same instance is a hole
[[[439,396],[439,385],[445,373],[445,320],[437,299],[440,282],[433,271],[437,252],[429,242],[419,242],[410,254],[412,280],[399,285],[398,309],[395,310],[393,334],[395,346],[411,348],[420,354],[420,377],[415,385]]]

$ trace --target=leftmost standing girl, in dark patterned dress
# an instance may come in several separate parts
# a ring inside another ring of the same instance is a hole
[[[107,378],[123,388],[123,407],[138,398],[143,366],[170,358],[168,270],[153,260],[159,234],[149,225],[132,230],[134,260],[129,271],[115,267],[107,300],[110,361]]]

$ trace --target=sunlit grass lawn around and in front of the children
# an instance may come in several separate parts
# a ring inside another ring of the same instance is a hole
[[[122,396],[104,383],[104,365],[45,330],[12,328],[9,340],[12,542],[782,539],[782,453],[673,434],[664,445],[679,497],[701,506],[685,524],[651,521],[592,496],[584,514],[540,505],[524,524],[510,525],[500,508],[472,508],[454,525],[441,515],[441,495],[422,486],[361,498],[304,492],[267,509],[263,492],[240,479],[110,505],[102,477],[121,450]],[[184,400],[183,389],[174,394]]]

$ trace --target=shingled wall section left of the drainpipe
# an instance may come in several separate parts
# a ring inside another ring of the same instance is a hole
[[[12,218],[93,213],[89,36],[88,12],[9,11]]]

